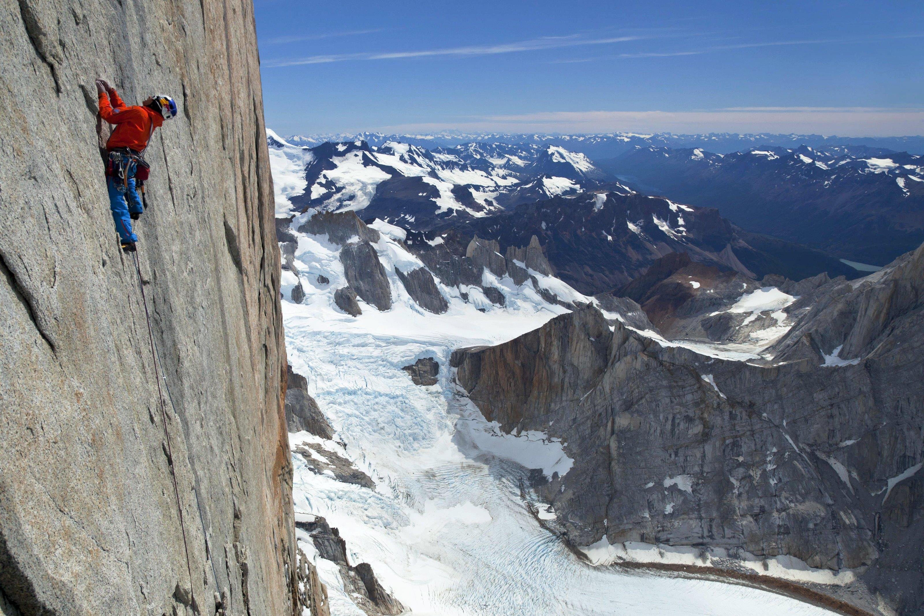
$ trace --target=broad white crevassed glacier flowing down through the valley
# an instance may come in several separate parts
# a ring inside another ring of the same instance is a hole
[[[565,308],[545,302],[531,283],[517,286],[505,277],[492,281],[507,296],[505,308],[482,304],[474,293],[467,303],[458,289],[437,283],[449,310],[427,312],[394,273],[395,267],[419,267],[419,260],[395,241],[400,229],[376,228],[383,237],[374,248],[392,284],[393,308],[380,312],[360,300],[358,318],[335,308],[334,289],[345,284],[340,247],[327,236],[302,234],[298,278],[287,272],[294,280],[284,293],[288,297],[300,280],[305,299],[283,301],[289,362],[307,377],[310,394],[335,430],[332,441],[292,434],[292,445],[319,443],[376,484],[367,489],[316,474],[293,455],[298,518],[322,515],[338,528],[351,564],[371,563],[383,586],[418,616],[830,613],[745,586],[619,570],[606,566],[614,556],[608,546],[587,549],[602,566],[565,548],[540,525],[555,513],[529,502],[534,497],[527,476],[529,468],[541,468],[567,480],[573,461],[566,443],[538,431],[501,433],[457,391],[448,367],[454,349],[505,342]],[[319,274],[331,282],[318,283]],[[551,277],[541,285],[567,292]],[[436,385],[415,385],[401,369],[421,357],[439,362]],[[687,478],[668,480],[680,485]],[[334,563],[320,558],[303,531],[298,539],[328,588],[331,613],[363,616]]]

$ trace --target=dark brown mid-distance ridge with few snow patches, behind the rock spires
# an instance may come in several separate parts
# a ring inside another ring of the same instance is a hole
[[[627,284],[673,252],[752,279],[775,273],[800,280],[820,272],[857,277],[856,270],[818,250],[749,234],[717,210],[620,189],[541,200],[409,237],[426,260],[434,251],[459,254],[475,236],[504,249],[528,245],[535,237],[550,272],[587,295]]]

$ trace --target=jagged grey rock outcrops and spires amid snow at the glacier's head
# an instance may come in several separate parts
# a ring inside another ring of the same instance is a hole
[[[376,227],[391,236],[383,236]],[[502,256],[496,241],[477,236],[468,240],[465,248],[448,248],[383,221],[364,223],[353,211],[314,210],[277,218],[276,234],[283,255],[286,299],[302,303],[305,284],[312,284],[319,292],[333,284],[326,275],[297,262],[297,234],[323,238],[336,250],[336,267],[343,272],[337,283],[343,286],[334,290],[334,303],[353,316],[362,314],[365,307],[380,311],[392,308],[397,300],[395,285],[402,287],[419,308],[434,314],[446,312],[447,298],[452,296],[482,310],[504,306],[506,296],[519,293],[523,285],[527,293],[551,304],[573,308],[592,301],[553,280],[552,267],[535,237],[526,246],[507,248]],[[395,256],[392,247],[400,256]],[[395,257],[400,262],[389,266],[391,272],[386,271],[383,260],[391,263]],[[318,282],[320,279],[324,282]]]

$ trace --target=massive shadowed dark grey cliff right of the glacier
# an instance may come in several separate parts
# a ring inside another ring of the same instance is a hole
[[[847,589],[822,592],[917,613],[922,280],[924,247],[821,286],[817,308],[776,347],[788,361],[772,365],[666,346],[596,308],[456,351],[453,365],[489,420],[567,443],[573,468],[536,489],[575,545],[606,537],[733,560],[792,556],[853,570]]]

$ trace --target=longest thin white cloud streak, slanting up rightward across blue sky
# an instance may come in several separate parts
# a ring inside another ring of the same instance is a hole
[[[331,62],[344,62],[346,60],[397,60],[406,58],[420,58],[433,56],[474,56],[493,54],[514,54],[517,52],[538,51],[544,49],[562,49],[565,47],[582,47],[589,45],[605,45],[617,42],[640,41],[644,36],[614,36],[597,39],[582,38],[578,34],[567,36],[544,37],[530,39],[529,41],[505,42],[489,45],[466,45],[462,47],[444,47],[437,49],[421,49],[408,52],[388,53],[359,53],[359,54],[324,54],[309,55],[301,58],[285,60],[270,60],[266,66],[301,66],[311,64],[327,64]]]

